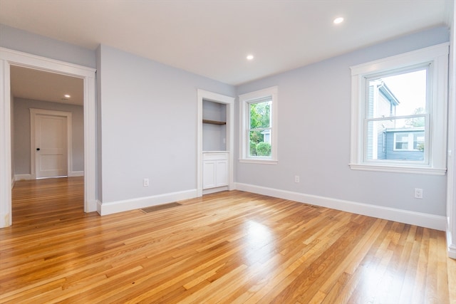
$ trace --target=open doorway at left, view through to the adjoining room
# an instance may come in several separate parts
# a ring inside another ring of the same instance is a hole
[[[72,149],[73,114],[75,142],[83,143],[83,81],[16,65],[10,67],[10,79],[14,225],[76,216],[83,212],[83,198],[71,189],[76,182],[83,187],[83,176],[68,176],[74,171],[73,154],[83,161],[83,150]]]

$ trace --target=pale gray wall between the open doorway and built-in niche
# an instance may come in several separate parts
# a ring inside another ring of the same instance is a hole
[[[98,58],[103,202],[196,189],[197,89],[235,88],[109,46]]]

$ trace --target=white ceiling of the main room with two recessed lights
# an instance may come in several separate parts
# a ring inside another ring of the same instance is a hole
[[[0,0],[0,23],[239,85],[445,25],[452,1]]]

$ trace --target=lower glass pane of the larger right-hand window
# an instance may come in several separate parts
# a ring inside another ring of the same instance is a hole
[[[366,160],[424,161],[425,127],[404,127],[406,121],[368,121]]]

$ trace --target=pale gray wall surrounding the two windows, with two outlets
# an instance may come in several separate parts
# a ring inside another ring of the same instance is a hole
[[[349,67],[448,39],[447,28],[433,28],[240,85],[238,94],[279,86],[279,164],[237,162],[236,182],[444,216],[446,176],[364,172],[348,167]],[[300,175],[300,183],[294,182],[295,175]],[[423,199],[413,197],[414,188],[423,189]]]

